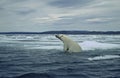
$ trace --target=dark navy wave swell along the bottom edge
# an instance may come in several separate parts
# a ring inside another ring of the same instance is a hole
[[[71,70],[71,69],[68,69]],[[54,73],[27,73],[16,77],[0,77],[0,78],[87,78],[88,76],[81,74],[54,74]]]

